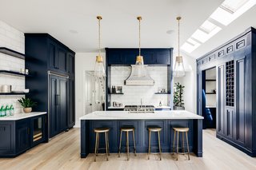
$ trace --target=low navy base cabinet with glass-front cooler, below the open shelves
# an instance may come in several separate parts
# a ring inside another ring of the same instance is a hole
[[[0,157],[18,156],[46,142],[46,114],[18,121],[0,121],[0,136]]]

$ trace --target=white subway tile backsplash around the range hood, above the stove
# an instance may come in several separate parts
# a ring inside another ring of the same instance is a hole
[[[166,66],[148,66],[147,70],[155,81],[153,86],[130,86],[124,85],[124,81],[130,76],[130,66],[111,66],[111,85],[122,85],[124,95],[111,95],[111,101],[117,101],[122,105],[140,105],[141,98],[143,105],[158,106],[168,105],[170,95],[156,95],[158,87],[167,90],[167,67]]]

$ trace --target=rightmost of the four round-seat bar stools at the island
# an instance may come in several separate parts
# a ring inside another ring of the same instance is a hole
[[[190,160],[190,147],[189,147],[189,140],[187,139],[187,132],[189,132],[190,128],[173,128],[174,129],[174,147],[173,147],[173,155],[174,155],[174,148],[175,148],[175,138],[176,138],[176,132],[177,132],[177,145],[176,145],[176,153],[177,153],[177,160],[178,160],[178,154],[188,154],[188,160]],[[182,132],[182,151],[178,152],[178,132]],[[185,152],[184,147],[184,133],[186,133],[186,148],[187,152]]]

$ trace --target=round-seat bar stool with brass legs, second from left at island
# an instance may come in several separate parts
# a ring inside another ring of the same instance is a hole
[[[127,149],[127,160],[129,160],[129,132],[133,132],[133,140],[134,140],[134,155],[136,156],[136,146],[134,139],[134,127],[122,127],[120,128],[120,143],[118,149],[118,157],[120,157],[121,146],[122,146],[122,132],[126,132],[126,149]]]

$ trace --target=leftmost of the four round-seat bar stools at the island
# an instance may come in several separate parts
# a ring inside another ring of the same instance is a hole
[[[101,150],[101,149],[106,149],[106,160],[109,160],[108,156],[110,155],[110,144],[109,144],[110,128],[94,128],[94,132],[96,133],[94,161],[96,162],[96,156],[98,156],[98,150]],[[103,132],[105,133],[105,146],[106,146],[106,148],[98,148],[99,135],[100,135],[100,133],[103,133]]]

